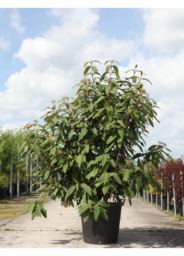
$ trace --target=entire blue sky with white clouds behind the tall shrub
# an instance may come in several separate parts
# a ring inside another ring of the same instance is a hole
[[[115,5],[116,6],[116,5]],[[0,6],[1,7],[1,6]],[[75,96],[89,60],[138,69],[158,107],[147,146],[162,141],[184,154],[184,8],[0,8],[0,125],[21,128],[53,99]],[[102,69],[99,65],[97,68]]]

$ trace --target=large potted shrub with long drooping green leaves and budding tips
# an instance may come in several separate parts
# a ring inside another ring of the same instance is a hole
[[[126,195],[131,203],[136,192],[148,190],[149,183],[159,190],[149,163],[158,168],[164,154],[169,155],[161,143],[143,152],[146,127],[156,119],[156,103],[143,88],[147,79],[137,65],[127,71],[132,72],[129,77],[120,79],[116,61],[107,61],[103,74],[95,62],[100,63],[84,64],[76,98],[63,97],[58,104],[52,101],[43,126],[24,127],[24,156],[31,151],[41,159],[34,175],[41,179],[37,192],[43,192],[26,210],[32,210],[32,218],[46,217],[46,194],[61,198],[65,207],[77,202],[79,216],[84,214],[86,221],[89,217],[97,220],[99,215],[108,219],[109,204],[121,203]]]

